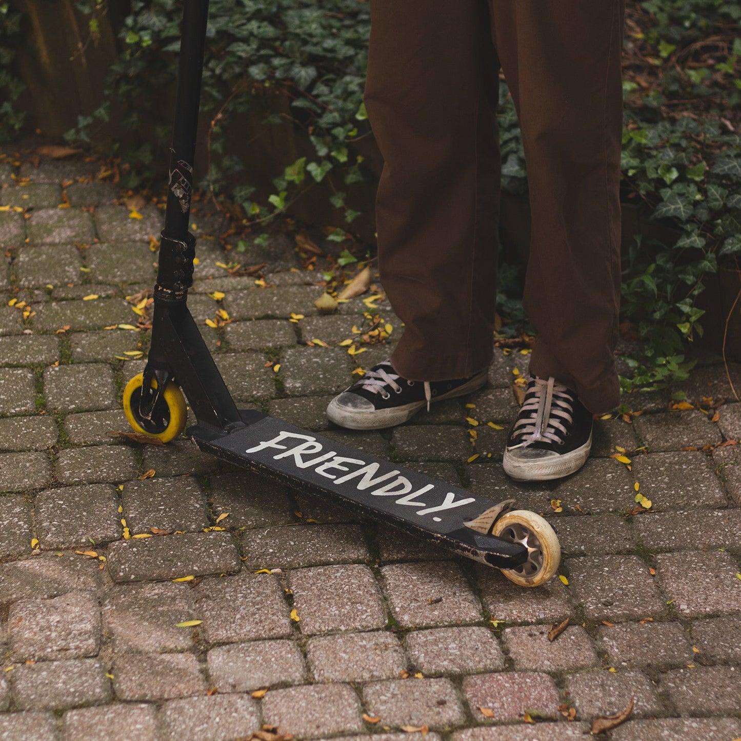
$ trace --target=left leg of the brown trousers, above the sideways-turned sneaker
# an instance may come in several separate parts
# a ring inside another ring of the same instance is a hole
[[[486,0],[371,0],[379,269],[405,324],[391,356],[404,379],[462,379],[491,362],[498,73]]]

